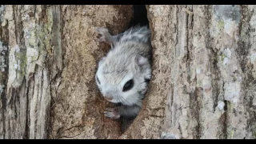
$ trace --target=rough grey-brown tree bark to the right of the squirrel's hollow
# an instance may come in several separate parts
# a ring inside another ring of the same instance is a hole
[[[147,8],[154,77],[122,137],[256,138],[256,6]]]

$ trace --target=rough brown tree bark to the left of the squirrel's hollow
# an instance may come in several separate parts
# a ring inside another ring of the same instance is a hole
[[[107,45],[94,26],[126,29],[132,6],[0,7],[0,138],[118,138],[94,82]]]

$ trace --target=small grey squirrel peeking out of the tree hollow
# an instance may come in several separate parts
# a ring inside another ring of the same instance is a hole
[[[151,33],[147,26],[134,26],[112,36],[106,28],[96,27],[99,42],[111,50],[98,62],[95,74],[98,89],[109,102],[121,106],[106,108],[108,118],[135,118],[151,78]]]

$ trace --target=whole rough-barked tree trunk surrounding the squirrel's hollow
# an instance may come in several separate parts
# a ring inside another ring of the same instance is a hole
[[[133,6],[0,6],[0,138],[256,138],[256,6],[146,6],[153,77],[121,132],[94,81]]]

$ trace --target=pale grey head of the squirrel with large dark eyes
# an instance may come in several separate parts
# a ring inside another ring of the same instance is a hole
[[[95,75],[98,88],[107,101],[128,106],[141,102],[150,77],[150,62],[146,58],[134,54],[124,56],[113,50],[98,63]]]

